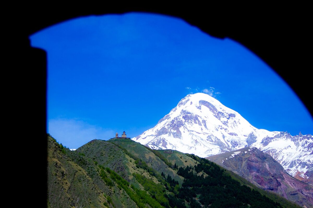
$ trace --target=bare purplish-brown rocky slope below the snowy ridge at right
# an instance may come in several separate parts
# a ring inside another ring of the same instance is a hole
[[[313,206],[313,187],[290,176],[276,160],[258,148],[242,148],[207,159],[264,190],[274,191],[301,206]]]

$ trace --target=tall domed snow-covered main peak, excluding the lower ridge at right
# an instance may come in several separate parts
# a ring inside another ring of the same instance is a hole
[[[188,94],[169,114],[133,140],[153,149],[177,149],[201,157],[243,148],[254,128],[208,94]],[[183,147],[183,149],[182,149]],[[219,148],[218,148],[219,147]]]

